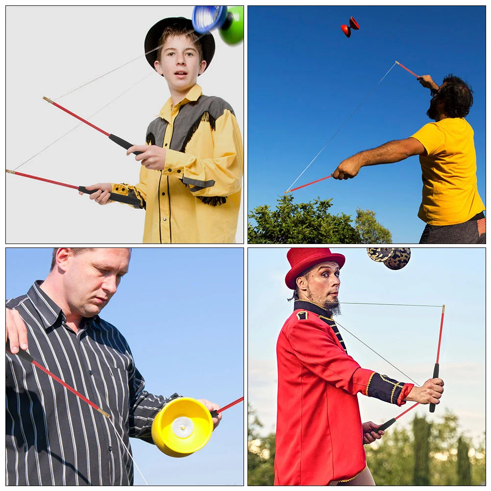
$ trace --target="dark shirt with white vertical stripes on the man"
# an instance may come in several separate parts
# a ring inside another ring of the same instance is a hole
[[[132,485],[129,437],[152,443],[152,421],[169,399],[144,390],[128,343],[114,326],[96,315],[75,334],[41,283],[6,302],[27,326],[28,352],[108,412],[114,427],[34,365],[7,353],[6,484]]]

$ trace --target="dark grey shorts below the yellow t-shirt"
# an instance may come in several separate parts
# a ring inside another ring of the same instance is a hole
[[[426,225],[420,244],[486,244],[486,218],[479,213],[457,225]]]

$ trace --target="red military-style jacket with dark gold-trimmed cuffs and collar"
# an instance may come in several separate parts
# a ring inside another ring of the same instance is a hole
[[[401,406],[413,384],[361,368],[321,307],[295,302],[276,345],[274,485],[325,486],[366,467],[356,394]]]

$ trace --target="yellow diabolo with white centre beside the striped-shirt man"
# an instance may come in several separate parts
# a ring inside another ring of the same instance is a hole
[[[169,402],[152,423],[152,438],[164,454],[187,457],[203,448],[212,436],[213,420],[206,406],[181,397]]]

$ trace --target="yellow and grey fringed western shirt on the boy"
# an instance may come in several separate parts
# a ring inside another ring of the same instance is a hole
[[[136,186],[112,185],[112,192],[136,196],[145,208],[143,243],[233,243],[244,150],[230,105],[203,95],[196,84],[175,106],[165,103],[146,143],[167,149],[164,169],[142,166]]]

